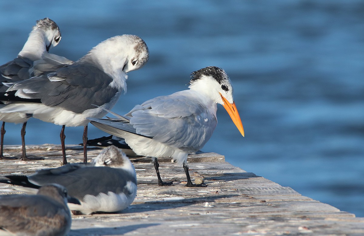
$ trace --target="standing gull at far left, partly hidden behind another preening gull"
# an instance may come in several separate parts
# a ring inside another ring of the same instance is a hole
[[[17,58],[0,66],[0,91],[5,92],[7,86],[3,83],[17,82],[20,80],[29,79],[28,70],[33,66],[35,60],[41,59],[42,54],[47,53],[52,47],[57,46],[61,40],[61,32],[58,25],[49,18],[37,20],[36,25],[30,32],[27,42],[24,44],[23,49],[19,52]],[[4,157],[4,134],[5,122],[23,123],[21,128],[21,144],[22,144],[22,160],[28,160],[25,153],[25,127],[31,114],[24,113],[0,113],[0,120],[3,121],[1,126],[1,141],[0,141],[0,159],[10,159]],[[36,159],[36,158],[31,158]],[[39,159],[39,158],[38,158]]]

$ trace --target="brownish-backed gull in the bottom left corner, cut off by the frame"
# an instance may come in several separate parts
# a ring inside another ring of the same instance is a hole
[[[0,196],[0,235],[67,235],[72,221],[67,197],[59,184],[44,185],[36,195]]]

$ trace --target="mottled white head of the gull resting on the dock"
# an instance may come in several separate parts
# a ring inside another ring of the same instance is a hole
[[[100,154],[91,161],[91,165],[121,168],[135,174],[134,165],[129,158],[122,150],[114,145],[108,146],[102,150]]]

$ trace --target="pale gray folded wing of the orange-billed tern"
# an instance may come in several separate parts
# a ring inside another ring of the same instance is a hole
[[[217,125],[216,116],[208,107],[198,99],[181,93],[146,101],[134,107],[127,115],[131,116],[130,123],[115,119],[91,119],[91,123],[96,121],[129,133],[151,137],[182,150],[199,150],[209,140]],[[111,134],[118,136],[117,133]]]

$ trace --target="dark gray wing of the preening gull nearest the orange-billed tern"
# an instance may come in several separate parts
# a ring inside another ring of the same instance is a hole
[[[40,99],[46,106],[59,106],[82,113],[111,101],[118,93],[109,84],[112,78],[91,65],[64,65],[55,72],[14,84],[9,91],[21,91],[19,97]]]

